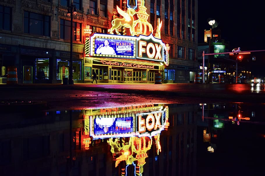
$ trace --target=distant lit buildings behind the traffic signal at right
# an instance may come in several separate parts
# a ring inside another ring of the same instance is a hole
[[[224,83],[246,83],[247,79],[253,77],[251,53],[236,53],[236,51],[241,51],[240,47],[231,49],[229,41],[221,38],[220,29],[204,30],[204,43],[198,43],[197,58],[200,63],[200,71],[198,72],[200,77],[202,77],[203,51],[205,54],[235,52],[204,57],[205,83],[219,83],[220,76],[224,78]]]

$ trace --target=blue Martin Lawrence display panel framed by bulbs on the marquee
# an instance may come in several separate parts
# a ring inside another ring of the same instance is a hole
[[[135,37],[95,33],[90,41],[91,56],[135,58]]]

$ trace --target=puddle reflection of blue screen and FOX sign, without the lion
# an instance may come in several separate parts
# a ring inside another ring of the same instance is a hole
[[[130,108],[130,107],[128,107]],[[89,125],[90,136],[94,139],[99,138],[108,138],[108,137],[131,137],[131,136],[148,136],[152,137],[158,133],[161,133],[162,130],[167,128],[168,121],[166,114],[168,114],[168,108],[163,108],[163,106],[150,106],[142,107],[120,111],[115,109],[108,113],[109,115],[87,115],[85,118],[85,126]],[[119,113],[117,113],[119,112]],[[130,113],[128,113],[130,112]],[[141,112],[141,113],[139,113]],[[143,113],[146,112],[146,113]],[[141,121],[135,119],[139,118],[139,115],[143,117]],[[136,129],[140,128],[143,125],[145,118],[148,118],[148,121],[153,120],[154,127],[152,123],[146,124],[145,128],[148,130],[148,133],[145,133],[142,130]],[[157,121],[159,120],[159,122]],[[89,121],[89,122],[88,122]],[[87,125],[86,125],[87,124]],[[152,129],[151,129],[152,128]],[[85,131],[88,131],[85,127]]]

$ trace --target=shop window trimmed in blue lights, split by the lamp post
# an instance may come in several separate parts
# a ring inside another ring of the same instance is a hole
[[[69,78],[69,61],[57,59],[57,79]],[[73,80],[81,80],[81,61],[73,61]]]

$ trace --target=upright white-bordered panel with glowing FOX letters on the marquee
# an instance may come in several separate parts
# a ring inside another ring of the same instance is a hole
[[[153,35],[139,35],[137,37],[137,59],[164,62],[165,43]]]

